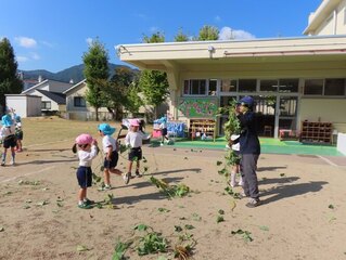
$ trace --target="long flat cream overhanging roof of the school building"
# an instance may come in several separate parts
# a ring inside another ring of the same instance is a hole
[[[187,72],[239,63],[345,60],[346,36],[139,43],[116,50],[123,62],[142,69]]]

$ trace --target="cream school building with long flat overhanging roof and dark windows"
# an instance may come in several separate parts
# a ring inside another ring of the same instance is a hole
[[[299,132],[304,121],[331,122],[346,132],[346,0],[324,0],[306,36],[228,41],[120,44],[119,58],[167,73],[175,120],[215,119],[222,134],[231,99],[252,95],[259,134]]]

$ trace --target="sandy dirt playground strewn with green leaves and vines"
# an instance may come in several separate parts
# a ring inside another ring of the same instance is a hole
[[[46,118],[23,125],[25,151],[15,167],[0,168],[0,259],[112,259],[117,240],[133,242],[127,259],[174,259],[182,234],[194,242],[196,260],[346,259],[345,164],[264,154],[257,172],[264,205],[251,209],[246,199],[225,192],[222,165],[217,166],[225,152],[145,146],[142,165],[149,173],[128,185],[113,176],[107,192],[93,185],[88,197],[102,202],[113,194],[115,208],[84,210],[77,207],[78,160],[71,147],[78,133],[97,136],[97,122]],[[101,162],[99,156],[92,167],[99,176]],[[119,169],[126,170],[126,162],[123,154]],[[191,192],[167,199],[149,182],[151,174],[184,183]],[[225,221],[217,223],[218,216]],[[138,224],[162,233],[168,251],[139,256],[144,233],[133,230]]]

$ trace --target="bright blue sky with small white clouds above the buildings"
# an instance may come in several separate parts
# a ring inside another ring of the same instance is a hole
[[[82,63],[99,39],[110,62],[125,64],[115,46],[141,43],[162,32],[174,41],[205,25],[220,39],[303,37],[308,16],[322,0],[0,0],[0,39],[10,40],[18,69],[57,73]]]

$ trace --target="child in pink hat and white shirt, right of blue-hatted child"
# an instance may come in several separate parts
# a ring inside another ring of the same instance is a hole
[[[150,135],[145,135],[139,131],[139,121],[137,119],[130,119],[130,131],[126,134],[125,144],[130,147],[129,152],[129,167],[127,174],[131,177],[133,160],[136,165],[136,176],[142,177],[139,172],[140,160],[142,159],[142,143],[143,140],[150,139]]]

